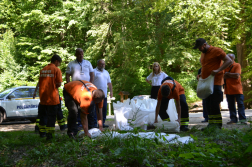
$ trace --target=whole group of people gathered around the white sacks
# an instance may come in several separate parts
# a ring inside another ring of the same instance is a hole
[[[214,76],[214,92],[204,99],[204,108],[209,122],[207,128],[210,126],[222,127],[220,102],[223,100],[222,85],[224,80],[224,89],[230,109],[231,121],[229,124],[237,122],[235,99],[238,103],[239,119],[245,122],[240,79],[241,67],[234,62],[235,56],[233,54],[226,55],[222,49],[208,45],[203,38],[196,40],[193,49],[202,52],[200,58],[202,68],[198,77],[205,79],[210,75]],[[75,56],[76,60],[67,66],[67,83],[63,89],[65,105],[69,111],[67,134],[72,138],[77,135],[79,128],[76,122],[79,118],[79,126],[84,129],[85,135],[90,137],[88,129],[97,127],[97,118],[101,131],[103,131],[103,127],[107,127],[104,124],[107,114],[107,86],[110,90],[110,97],[112,97],[112,84],[108,71],[104,69],[104,60],[98,60],[97,67],[93,69],[91,63],[83,59],[82,49],[76,49]],[[62,74],[57,68],[61,62],[61,58],[54,55],[51,64],[40,71],[38,82],[40,105],[42,106],[39,111],[39,117],[42,118],[39,123],[40,136],[46,136],[48,140],[53,137],[57,112],[61,108],[58,87],[62,83]],[[188,131],[188,105],[181,84],[163,72],[157,62],[153,64],[153,72],[146,78],[146,82],[152,85],[151,98],[157,99],[155,122],[157,122],[158,115],[162,120],[169,120],[166,110],[169,100],[175,99],[180,130]]]

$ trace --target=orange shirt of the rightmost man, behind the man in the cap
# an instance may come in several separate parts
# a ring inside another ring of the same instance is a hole
[[[230,71],[230,69],[231,69],[231,71]],[[230,73],[241,74],[241,65],[239,63],[234,62],[231,66],[226,68],[224,71],[225,72],[230,71]],[[243,94],[242,84],[241,84],[241,77],[239,76],[238,79],[227,78],[226,79],[226,85],[225,85],[224,88],[225,88],[224,93],[228,94],[228,95]]]

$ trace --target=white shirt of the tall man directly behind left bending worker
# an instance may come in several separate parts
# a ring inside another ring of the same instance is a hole
[[[71,61],[66,68],[66,73],[70,74],[72,81],[85,80],[90,82],[90,72],[94,72],[92,64],[88,60]]]

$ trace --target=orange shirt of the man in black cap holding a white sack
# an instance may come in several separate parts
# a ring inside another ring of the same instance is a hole
[[[207,78],[213,70],[217,70],[222,65],[222,60],[226,53],[217,47],[210,46],[206,53],[201,54],[201,77]],[[224,71],[220,71],[214,77],[214,85],[223,85]]]

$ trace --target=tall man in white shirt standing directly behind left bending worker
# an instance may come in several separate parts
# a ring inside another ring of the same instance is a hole
[[[77,48],[75,51],[76,60],[71,61],[66,68],[66,81],[69,83],[70,77],[72,81],[85,80],[91,83],[94,82],[94,69],[92,64],[88,60],[83,59],[83,50]],[[80,121],[80,114],[77,118],[78,126],[82,127]],[[95,115],[88,114],[88,126],[89,128],[96,128],[97,122]]]

